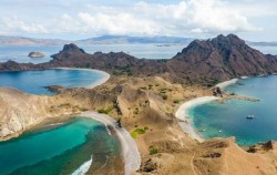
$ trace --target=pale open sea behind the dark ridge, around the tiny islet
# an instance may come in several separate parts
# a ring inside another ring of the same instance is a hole
[[[162,45],[162,47],[161,47]],[[88,53],[101,51],[109,52],[125,52],[138,59],[172,59],[181,52],[186,44],[91,44],[79,45]],[[20,63],[42,63],[52,60],[51,55],[61,51],[63,45],[33,45],[33,47],[4,47],[0,45],[0,62],[13,60]],[[277,55],[277,47],[254,47],[263,53]],[[31,59],[28,54],[31,51],[39,51],[45,54],[42,59]]]

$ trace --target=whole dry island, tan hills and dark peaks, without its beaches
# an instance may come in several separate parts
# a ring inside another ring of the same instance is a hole
[[[212,96],[218,82],[277,72],[277,58],[252,49],[238,37],[195,40],[171,60],[136,59],[124,52],[89,54],[75,44],[64,45],[52,58],[40,64],[8,61],[0,63],[0,71],[86,68],[106,71],[111,79],[94,89],[59,87],[55,96],[0,89],[2,140],[45,117],[98,111],[121,119],[135,140],[142,156],[135,174],[277,173],[275,142],[246,148],[234,137],[198,142],[183,132],[184,121],[175,117],[183,102]]]

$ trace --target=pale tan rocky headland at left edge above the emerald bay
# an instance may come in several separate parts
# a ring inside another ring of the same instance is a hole
[[[17,136],[48,113],[49,99],[0,87],[0,140]]]

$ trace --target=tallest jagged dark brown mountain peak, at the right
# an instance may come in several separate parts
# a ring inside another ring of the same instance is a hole
[[[277,72],[277,59],[248,47],[234,34],[193,41],[167,62],[172,72],[196,80],[228,80]]]

